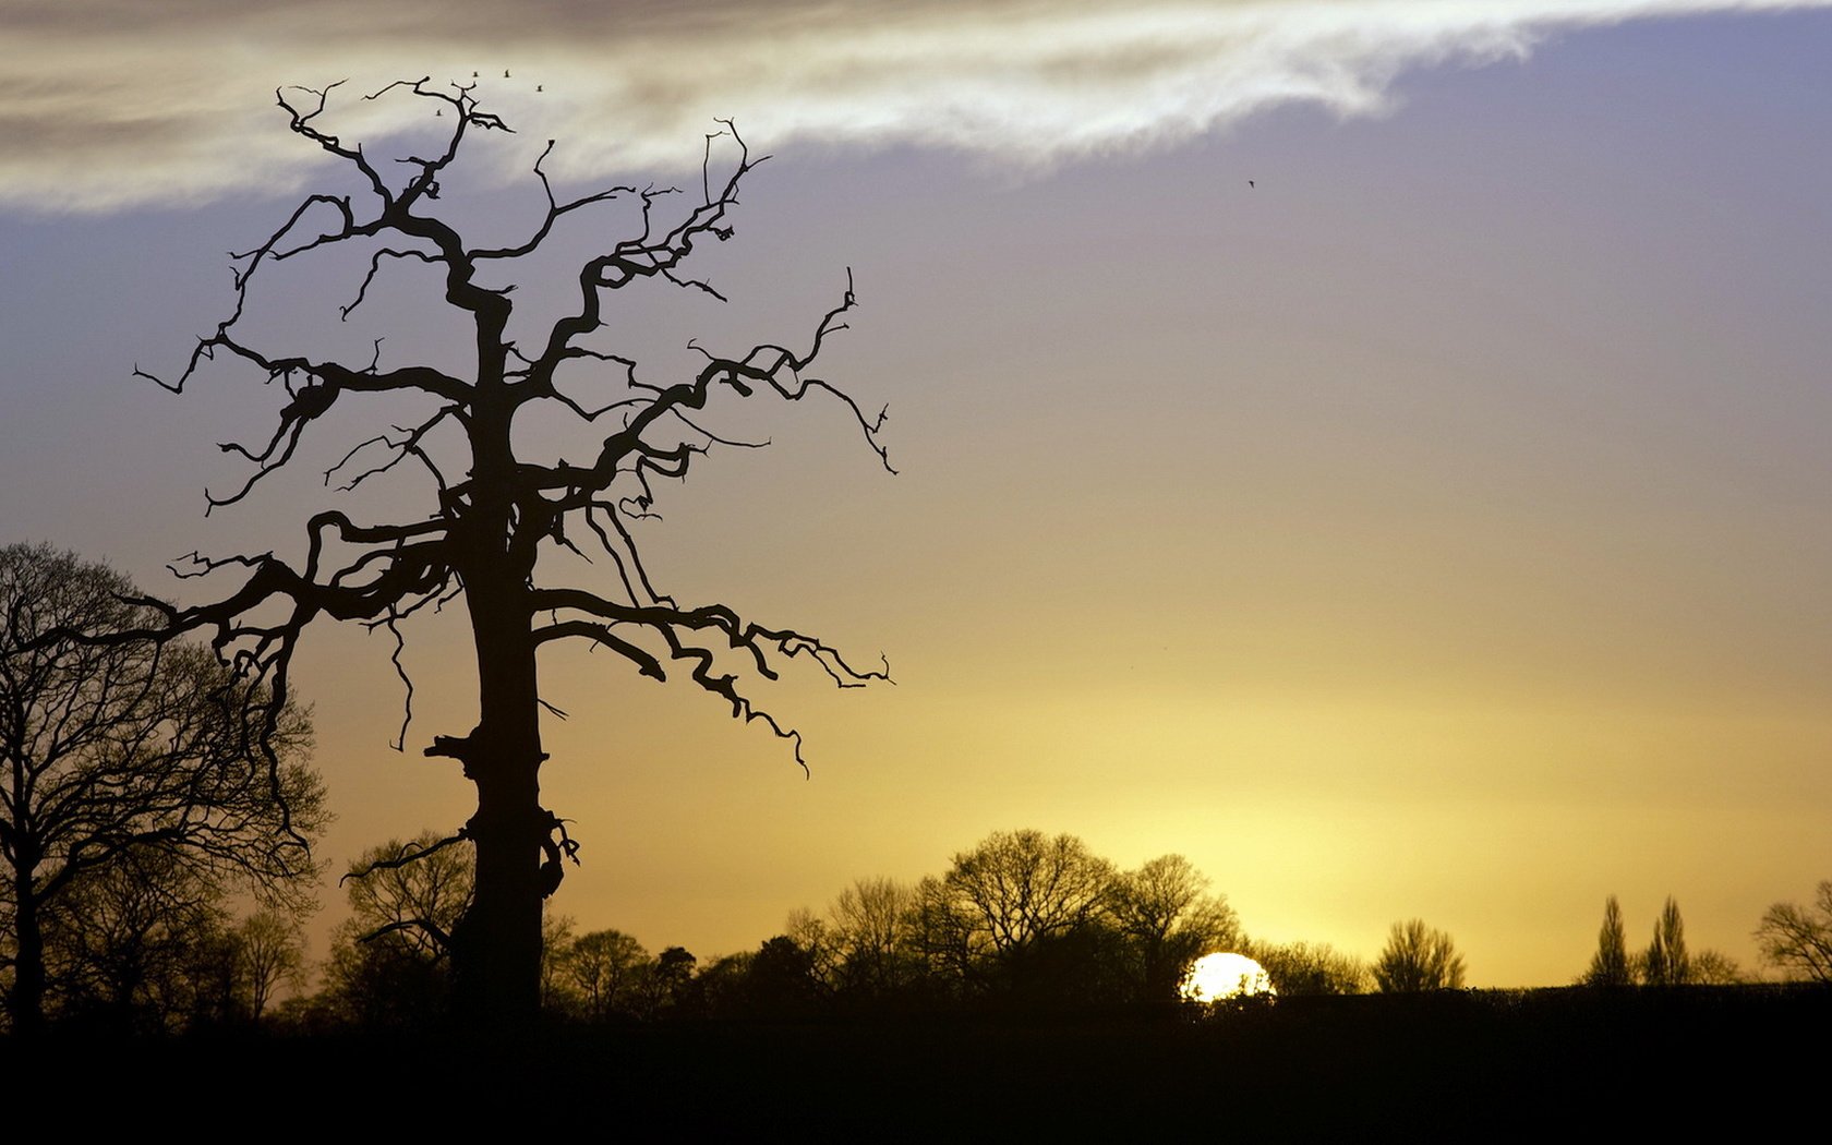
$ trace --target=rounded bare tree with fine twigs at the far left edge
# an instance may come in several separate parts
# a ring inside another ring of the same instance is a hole
[[[330,815],[304,762],[308,713],[209,649],[123,636],[156,616],[106,564],[0,548],[0,931],[7,1009],[26,1035],[44,1028],[55,987],[48,927],[81,921],[84,894],[310,901],[311,839]],[[97,643],[108,636],[123,638]]]

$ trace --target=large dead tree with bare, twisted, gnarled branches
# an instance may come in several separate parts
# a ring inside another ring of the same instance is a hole
[[[731,236],[738,185],[762,161],[749,156],[729,123],[707,137],[700,202],[678,209],[674,203],[692,200],[656,187],[610,187],[559,200],[542,170],[553,150],[550,141],[533,165],[546,196],[544,214],[518,242],[491,247],[471,245],[440,200],[440,181],[473,134],[511,130],[478,108],[473,88],[438,88],[421,79],[365,97],[416,101],[409,106],[431,112],[425,125],[443,128],[429,154],[390,163],[326,126],[326,103],[335,88],[286,88],[277,99],[293,134],[354,169],[363,191],[311,194],[260,245],[233,255],[229,317],[198,341],[176,379],[161,381],[137,368],[136,374],[183,390],[205,363],[227,357],[269,383],[282,383],[286,403],[266,442],[224,445],[253,473],[234,493],[211,496],[211,507],[240,502],[262,478],[288,465],[302,436],[333,409],[370,396],[418,401],[418,421],[355,443],[326,480],[343,476],[344,487],[355,489],[401,463],[418,465],[429,478],[427,513],[359,524],[343,511],[321,511],[306,522],[306,559],[297,568],[271,551],[194,555],[191,572],[236,575],[238,588],[207,605],[165,608],[165,630],[209,632],[218,654],[258,674],[275,700],[284,702],[293,650],[313,619],[330,616],[387,628],[399,641],[396,625],[403,617],[463,599],[476,649],[478,722],[465,735],[434,736],[425,753],[456,760],[478,799],[476,815],[460,832],[476,846],[476,900],[453,934],[458,1004],[473,1019],[515,1022],[537,1009],[540,901],[559,885],[562,859],[575,850],[561,819],[540,804],[546,755],[537,652],[579,639],[616,652],[654,680],[683,669],[687,680],[724,700],[735,718],[760,722],[790,740],[801,760],[801,735],[746,696],[740,672],[773,680],[786,660],[806,658],[839,687],[857,687],[885,680],[885,667],[854,667],[815,636],[764,627],[720,603],[676,601],[650,581],[632,522],[649,515],[658,480],[685,476],[709,449],[740,445],[696,423],[714,403],[834,401],[889,471],[879,442],[885,414],[867,416],[843,388],[808,372],[826,339],[845,330],[841,319],[854,308],[850,275],[839,304],[819,319],[801,350],[762,344],[740,357],[702,350],[703,363],[692,376],[658,383],[643,377],[634,359],[594,341],[610,295],[638,282],[665,280],[724,300],[682,266],[698,244]],[[718,178],[714,158],[727,148],[736,158],[731,172]],[[480,271],[535,255],[559,220],[612,200],[638,209],[634,233],[583,260],[575,308],[546,324],[539,343],[511,339],[506,332],[515,311],[513,286],[487,286]],[[672,214],[672,222],[658,222],[663,214]],[[377,280],[390,275],[388,267],[407,262],[436,267],[443,302],[474,332],[474,363],[465,376],[418,363],[383,366],[379,346],[376,361],[350,365],[269,355],[251,344],[255,339],[242,333],[244,311],[255,286],[264,282],[262,271],[332,247],[357,247],[368,262],[361,280],[352,282],[343,317],[365,304]],[[597,377],[586,385],[581,372]],[[517,423],[535,407],[564,409],[592,427],[592,453],[555,463],[517,456],[511,445]],[[540,579],[544,559],[551,561],[555,550],[583,555],[581,544],[608,557],[606,568],[614,572],[608,584],[583,588]]]

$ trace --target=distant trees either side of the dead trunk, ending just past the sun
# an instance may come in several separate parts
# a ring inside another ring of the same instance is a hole
[[[317,1020],[388,1024],[436,1008],[443,936],[469,896],[467,856],[394,865],[432,843],[388,843],[354,867],[372,870],[348,879],[352,918],[310,1004]],[[856,879],[824,912],[793,911],[755,951],[705,964],[550,918],[542,1002],[581,1022],[1127,1006],[1174,1002],[1209,951],[1251,951],[1286,993],[1370,982],[1359,960],[1326,945],[1249,940],[1182,856],[1121,870],[1074,835],[1020,830],[995,832],[916,883]]]

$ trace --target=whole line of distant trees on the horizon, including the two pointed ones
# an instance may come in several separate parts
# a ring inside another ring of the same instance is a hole
[[[377,848],[365,865],[431,841]],[[326,991],[344,1019],[394,1020],[409,1017],[387,1013],[401,998],[436,997],[442,951],[429,936],[449,929],[462,890],[431,905],[412,887],[438,881],[438,868],[414,870],[412,863],[388,868],[379,887],[390,889],[379,896],[352,890],[354,918]],[[467,865],[454,863],[462,870]],[[377,900],[392,905],[381,909]],[[1827,980],[1832,883],[1821,885],[1814,911],[1772,907],[1757,936],[1775,965]],[[1416,918],[1394,923],[1372,962],[1325,943],[1255,940],[1226,896],[1211,892],[1182,856],[1123,870],[1074,835],[1020,830],[995,832],[954,854],[945,872],[914,883],[856,879],[824,911],[790,912],[782,932],[755,951],[705,964],[682,947],[652,954],[621,931],[579,932],[573,920],[550,920],[542,998],[550,1015],[579,1022],[1167,1004],[1180,997],[1191,962],[1213,951],[1255,958],[1284,997],[1462,989],[1467,973],[1451,934]],[[423,987],[401,986],[407,967]],[[1598,953],[1579,978],[1587,986],[1744,980],[1726,954],[1689,951],[1673,900],[1649,945],[1630,951],[1614,896]]]

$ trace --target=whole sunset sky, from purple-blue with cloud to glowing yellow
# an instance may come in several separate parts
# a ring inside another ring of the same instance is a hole
[[[517,128],[445,196],[478,229],[539,205],[550,137],[570,187],[691,183],[729,117],[771,154],[698,264],[729,304],[658,288],[614,333],[656,377],[692,337],[801,344],[850,269],[821,370],[889,405],[898,473],[839,407],[751,409],[771,447],[703,458],[641,542],[683,601],[896,683],[760,685],[804,775],[711,696],[550,654],[559,911],[705,958],[1033,826],[1183,854],[1273,942],[1423,918],[1473,986],[1570,982],[1608,894],[1630,940],[1671,894],[1753,967],[1832,878],[1828,7],[0,0],[0,542],[192,599],[187,551],[423,511],[321,480],[372,407],[205,518],[275,392],[132,377],[339,185],[275,88],[348,79],[328,117],[385,150],[401,106],[357,95],[478,71]],[[407,275],[341,324],[359,275],[275,278],[251,328],[453,361]],[[409,630],[405,753],[390,641],[308,639],[335,868],[469,815],[418,751],[474,722],[465,636]]]

